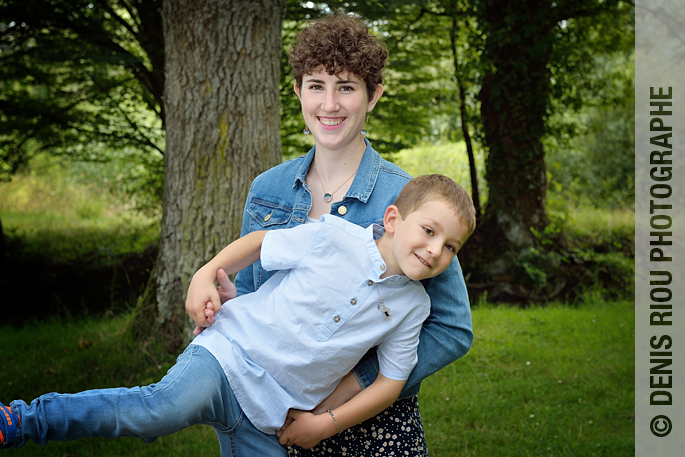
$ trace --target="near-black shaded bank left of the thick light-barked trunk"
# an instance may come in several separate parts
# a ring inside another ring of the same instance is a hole
[[[60,261],[26,254],[7,239],[0,257],[2,323],[21,326],[48,317],[101,316],[135,307],[157,257],[157,247],[118,255],[93,253]]]

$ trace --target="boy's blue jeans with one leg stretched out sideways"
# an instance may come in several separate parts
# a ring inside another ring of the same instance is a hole
[[[205,348],[190,345],[157,384],[146,387],[51,393],[18,400],[21,419],[14,447],[27,440],[137,436],[145,442],[195,424],[216,431],[222,457],[287,456],[276,435],[257,430],[245,416],[221,365]]]

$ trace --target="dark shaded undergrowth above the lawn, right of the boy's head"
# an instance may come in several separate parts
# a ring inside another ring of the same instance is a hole
[[[458,254],[472,306],[481,298],[526,307],[551,301],[577,303],[590,290],[605,300],[635,294],[633,232],[571,238],[546,230],[537,233],[535,246],[522,254],[507,251],[497,237],[485,238],[476,230]],[[483,246],[499,246],[499,256]],[[497,261],[511,267],[491,275],[487,266]]]

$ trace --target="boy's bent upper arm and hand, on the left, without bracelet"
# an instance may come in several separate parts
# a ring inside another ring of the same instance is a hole
[[[219,293],[214,285],[217,272],[222,269],[227,275],[237,273],[259,260],[262,241],[266,231],[248,233],[226,246],[205,266],[200,268],[188,287],[186,309],[198,327],[207,327],[206,305],[211,303],[214,313],[221,308]]]

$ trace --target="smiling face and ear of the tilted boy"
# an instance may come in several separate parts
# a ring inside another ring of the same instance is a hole
[[[454,208],[441,200],[427,201],[405,218],[393,206],[386,216],[392,208],[396,216],[386,222],[386,231],[393,234],[392,267],[401,271],[396,273],[418,281],[445,271],[468,235]]]

